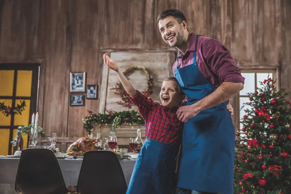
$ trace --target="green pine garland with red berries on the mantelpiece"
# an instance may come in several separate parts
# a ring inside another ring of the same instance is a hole
[[[85,116],[85,119],[82,119],[83,129],[85,129],[89,135],[93,131],[94,125],[109,125],[113,124],[115,118],[120,117],[120,124],[118,125],[132,125],[132,124],[141,124],[145,125],[145,121],[140,113],[136,111],[122,111],[122,112],[113,112],[113,113],[93,113],[88,111],[88,115]]]

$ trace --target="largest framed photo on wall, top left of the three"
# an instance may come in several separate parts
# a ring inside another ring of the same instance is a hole
[[[70,73],[70,92],[84,93],[86,85],[86,72],[71,72]]]

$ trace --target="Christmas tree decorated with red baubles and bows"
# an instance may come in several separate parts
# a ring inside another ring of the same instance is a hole
[[[291,194],[291,102],[275,81],[260,82],[236,135],[234,194]],[[243,108],[243,107],[242,107]]]

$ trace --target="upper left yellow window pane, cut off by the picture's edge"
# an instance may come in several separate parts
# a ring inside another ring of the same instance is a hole
[[[0,96],[12,97],[14,70],[0,70]]]

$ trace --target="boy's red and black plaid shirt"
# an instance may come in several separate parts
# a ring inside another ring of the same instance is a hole
[[[146,122],[146,139],[177,146],[181,144],[183,122],[177,117],[178,108],[171,110],[158,102],[151,102],[139,91],[129,99],[138,107]]]

